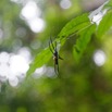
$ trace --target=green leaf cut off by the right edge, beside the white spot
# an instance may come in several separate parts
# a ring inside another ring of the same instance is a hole
[[[102,37],[112,27],[112,11],[109,11],[100,22],[97,30],[98,37]]]

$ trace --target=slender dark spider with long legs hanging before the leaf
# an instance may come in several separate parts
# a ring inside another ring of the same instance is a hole
[[[59,59],[60,60],[63,60],[63,59],[59,55],[59,52],[58,52],[58,49],[57,49],[57,41],[55,41],[55,47],[54,47],[51,37],[50,37],[50,40],[49,40],[49,49],[53,54],[54,72],[55,72],[55,74],[59,74]]]

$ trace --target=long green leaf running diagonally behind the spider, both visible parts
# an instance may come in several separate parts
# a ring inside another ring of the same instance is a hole
[[[66,37],[69,37],[70,35],[74,34],[77,30],[82,30],[89,24],[90,22],[87,13],[73,18],[62,28],[61,33],[58,35],[59,38],[57,38],[55,41],[60,41],[60,43],[63,46],[63,43],[67,40]],[[29,65],[27,76],[33,74],[36,71],[36,69],[46,64],[50,60],[50,58],[51,53],[49,48],[42,50]]]

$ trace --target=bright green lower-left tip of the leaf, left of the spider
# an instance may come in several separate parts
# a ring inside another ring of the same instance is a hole
[[[50,50],[49,48],[42,50],[36,58],[35,60],[32,62],[32,64],[29,65],[29,70],[27,71],[27,76],[33,74],[37,67],[42,66],[43,64],[46,64],[50,58],[51,58]]]

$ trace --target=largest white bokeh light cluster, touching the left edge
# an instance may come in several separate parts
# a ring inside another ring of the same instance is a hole
[[[30,51],[27,47],[21,48],[16,54],[2,51],[0,53],[0,82],[9,84],[13,87],[25,78],[32,60]]]

